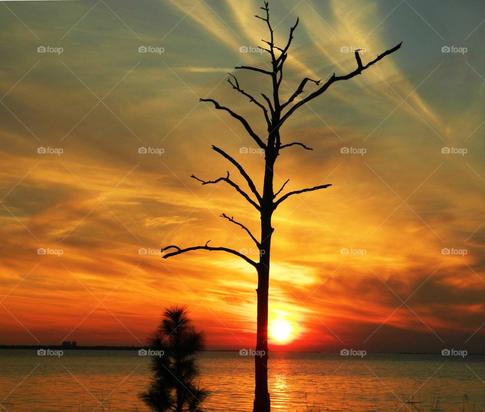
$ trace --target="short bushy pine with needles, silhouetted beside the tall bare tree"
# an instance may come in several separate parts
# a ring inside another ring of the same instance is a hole
[[[200,412],[207,391],[195,383],[199,376],[198,353],[205,338],[196,332],[185,307],[168,308],[158,329],[149,339],[153,350],[153,377],[147,391],[139,394],[153,412]]]

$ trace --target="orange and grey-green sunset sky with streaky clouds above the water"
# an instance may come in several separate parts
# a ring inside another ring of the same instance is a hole
[[[209,239],[252,247],[219,215],[258,232],[254,209],[190,175],[232,170],[215,144],[261,188],[255,143],[199,102],[215,98],[264,133],[260,111],[226,82],[234,66],[268,64],[240,52],[267,38],[253,17],[261,5],[2,2],[0,344],[141,345],[165,307],[185,304],[209,348],[254,346],[254,268],[225,253],[152,252]],[[283,142],[314,150],[285,149],[275,186],[332,186],[275,214],[270,320],[287,320],[294,335],[270,347],[483,351],[482,2],[273,0],[270,12],[279,43],[300,18],[285,97],[304,77],[354,70],[348,49],[363,48],[365,64],[404,42],[281,130]],[[237,76],[256,95],[268,90],[262,75]]]

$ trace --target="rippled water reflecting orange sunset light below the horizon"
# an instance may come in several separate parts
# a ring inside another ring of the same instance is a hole
[[[251,412],[251,357],[206,352],[201,367],[212,393],[207,410]],[[485,406],[485,356],[272,353],[269,372],[274,411],[430,412],[438,400],[441,411]],[[58,358],[0,350],[0,411],[146,411],[136,395],[149,373],[149,358],[137,351],[72,350]],[[403,405],[413,393],[416,408]]]

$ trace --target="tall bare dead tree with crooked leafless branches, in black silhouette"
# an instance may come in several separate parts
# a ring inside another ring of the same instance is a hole
[[[263,191],[260,193],[256,188],[256,185],[253,179],[248,175],[245,171],[243,166],[241,166],[234,158],[232,158],[228,153],[222,150],[219,147],[212,146],[212,149],[219,153],[223,158],[229,161],[240,173],[240,175],[246,180],[246,183],[249,187],[250,192],[243,190],[239,185],[237,185],[230,177],[229,172],[225,177],[219,177],[215,180],[203,180],[199,179],[194,175],[190,177],[193,179],[198,180],[203,185],[206,184],[215,184],[218,182],[226,182],[230,186],[232,186],[246,201],[248,201],[259,213],[261,218],[261,234],[257,238],[254,236],[251,231],[242,223],[235,221],[232,217],[228,217],[225,214],[222,214],[221,217],[227,219],[229,222],[241,227],[244,229],[247,234],[251,237],[252,241],[256,244],[256,247],[259,249],[259,261],[256,262],[245,254],[238,252],[234,249],[228,247],[213,247],[209,246],[209,241],[205,245],[201,246],[192,246],[186,248],[180,248],[176,245],[169,245],[162,249],[162,251],[166,252],[169,249],[174,249],[169,253],[165,253],[163,255],[164,259],[170,258],[171,256],[175,256],[178,254],[182,254],[185,252],[189,252],[192,250],[209,250],[209,251],[224,251],[227,253],[231,253],[233,255],[238,256],[241,259],[244,259],[250,265],[252,265],[258,274],[258,288],[256,289],[257,292],[257,332],[256,332],[256,350],[263,351],[264,355],[255,356],[255,397],[254,397],[254,412],[269,412],[270,410],[270,398],[268,393],[268,286],[269,286],[269,268],[270,268],[270,256],[271,256],[271,238],[273,235],[273,227],[271,226],[271,219],[273,216],[274,211],[276,208],[288,197],[305,193],[311,192],[315,190],[325,189],[330,184],[324,184],[314,187],[309,187],[305,189],[293,190],[289,191],[285,194],[281,194],[284,190],[284,187],[288,183],[289,179],[284,182],[279,190],[274,192],[273,188],[273,177],[274,177],[274,165],[276,159],[280,155],[280,151],[293,146],[300,146],[306,150],[313,150],[311,147],[308,147],[306,144],[301,142],[288,142],[283,143],[280,138],[280,129],[285,123],[285,121],[292,116],[299,108],[303,105],[307,104],[309,101],[313,100],[314,98],[320,96],[324,93],[333,83],[341,81],[341,80],[349,80],[353,77],[361,74],[364,70],[372,66],[373,64],[377,63],[385,56],[394,53],[401,47],[401,43],[397,46],[386,50],[384,53],[378,55],[374,60],[364,65],[362,63],[361,57],[359,52],[361,49],[355,50],[355,60],[357,63],[357,68],[345,75],[336,76],[335,73],[330,76],[328,80],[323,82],[322,80],[315,80],[310,79],[308,77],[304,78],[298,88],[294,91],[292,95],[287,98],[287,100],[281,100],[280,96],[280,85],[283,78],[283,65],[288,57],[288,49],[292,44],[293,35],[295,29],[298,26],[299,19],[297,19],[295,25],[290,28],[289,30],[289,37],[284,45],[284,47],[278,47],[274,41],[274,32],[273,28],[270,23],[269,18],[269,3],[264,2],[264,7],[261,9],[265,12],[265,17],[261,17],[256,15],[255,17],[258,19],[263,20],[268,29],[269,29],[269,40],[262,40],[266,43],[267,48],[263,48],[271,58],[271,64],[266,69],[261,69],[258,67],[252,66],[238,66],[235,69],[238,70],[250,70],[257,72],[259,74],[268,76],[271,81],[272,85],[272,95],[269,97],[261,93],[264,102],[257,100],[252,94],[245,91],[241,88],[237,78],[229,73],[230,78],[228,78],[229,84],[232,86],[240,94],[243,94],[247,98],[249,98],[250,102],[255,104],[261,111],[263,112],[264,120],[267,125],[267,136],[265,137],[265,141],[253,130],[249,122],[239,114],[235,113],[231,109],[221,106],[219,102],[212,98],[201,98],[200,101],[209,102],[214,105],[215,109],[222,110],[227,112],[230,116],[236,119],[243,127],[246,129],[249,136],[256,142],[256,144],[265,152],[264,163],[264,177],[263,177]],[[314,89],[307,94],[305,97],[301,98],[300,96],[305,92],[305,87],[309,85],[309,83],[313,83],[315,86]],[[280,197],[278,198],[278,195]]]

